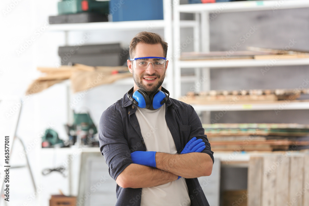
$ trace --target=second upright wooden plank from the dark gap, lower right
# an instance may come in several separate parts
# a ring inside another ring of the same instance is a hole
[[[264,157],[262,206],[275,205],[277,167],[274,162],[276,158],[276,156]]]

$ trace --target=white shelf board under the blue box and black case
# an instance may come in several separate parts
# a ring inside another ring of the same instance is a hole
[[[180,27],[194,27],[196,21],[180,21]],[[137,30],[137,29],[163,29],[166,27],[165,20],[145,20],[145,21],[120,21],[120,22],[90,22],[90,23],[64,23],[50,24],[50,32],[63,31],[93,31],[93,30]]]

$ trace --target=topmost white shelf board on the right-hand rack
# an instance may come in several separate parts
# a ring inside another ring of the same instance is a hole
[[[239,12],[239,11],[261,11],[277,9],[305,8],[309,6],[307,0],[281,0],[281,1],[240,1],[219,2],[208,4],[182,4],[175,6],[176,11],[184,13],[196,13],[208,11],[210,13]]]

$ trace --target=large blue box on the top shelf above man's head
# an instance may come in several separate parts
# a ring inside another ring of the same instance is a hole
[[[163,19],[163,0],[110,0],[112,21]]]

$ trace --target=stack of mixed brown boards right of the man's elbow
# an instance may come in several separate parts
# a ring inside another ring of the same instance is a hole
[[[305,124],[203,124],[213,151],[274,151],[297,149],[309,141]]]

